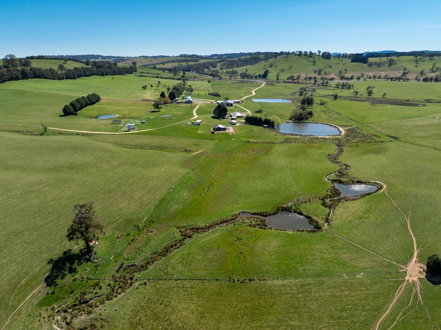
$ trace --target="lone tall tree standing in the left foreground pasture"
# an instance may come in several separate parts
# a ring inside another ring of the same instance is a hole
[[[103,231],[103,225],[95,217],[93,211],[93,201],[88,200],[86,203],[76,203],[73,206],[72,224],[68,229],[66,237],[70,241],[81,240],[86,244],[86,252],[88,256],[92,256],[91,243],[98,240],[98,233]]]

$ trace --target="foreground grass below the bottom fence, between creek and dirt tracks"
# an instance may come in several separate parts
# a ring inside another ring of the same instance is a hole
[[[389,278],[310,278],[255,281],[150,281],[137,286],[121,304],[100,307],[92,320],[108,329],[341,329],[373,327],[395,293]],[[391,292],[383,295],[383,292]],[[428,322],[424,322],[428,325]]]

